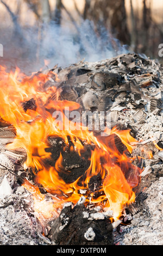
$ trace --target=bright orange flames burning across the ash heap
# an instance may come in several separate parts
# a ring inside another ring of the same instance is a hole
[[[46,82],[52,79],[54,86],[46,88]],[[66,117],[65,109],[72,111],[79,109],[80,105],[76,102],[61,101],[57,82],[57,74],[53,72],[38,72],[27,77],[21,74],[19,69],[7,72],[0,67],[0,116],[16,129],[16,138],[7,148],[26,149],[27,160],[24,169],[33,169],[36,184],[41,184],[52,194],[53,203],[47,202],[45,195],[29,181],[25,180],[23,186],[33,194],[35,211],[43,218],[50,218],[53,213],[57,216],[57,209],[61,208],[64,202],[76,204],[80,197],[85,196],[86,204],[91,202],[108,207],[113,210],[114,219],[117,219],[121,216],[123,207],[135,200],[133,187],[140,182],[140,170],[132,164],[125,152],[121,154],[118,151],[115,137],[121,139],[129,153],[133,150],[131,142],[136,140],[130,136],[129,130],[120,131],[116,127],[112,130],[106,128],[106,137],[96,137],[80,122],[76,124],[78,129],[74,129],[73,123]],[[31,99],[35,102],[35,107],[24,109],[22,103]],[[62,118],[57,122],[53,118],[54,111],[62,113]],[[70,184],[66,184],[60,176],[61,172],[68,172],[62,165],[61,154],[55,166],[47,164],[46,160],[51,159],[51,153],[46,150],[51,147],[48,142],[50,136],[62,138],[67,147],[70,138],[73,143],[70,150],[76,151],[80,156],[87,150],[86,145],[92,146],[89,168]],[[96,184],[93,188],[90,186],[92,177],[98,177],[100,180],[98,187]],[[80,190],[86,191],[85,194],[81,194]]]

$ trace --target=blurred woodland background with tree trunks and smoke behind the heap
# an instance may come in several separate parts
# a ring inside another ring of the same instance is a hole
[[[162,0],[0,0],[0,11],[1,65],[33,72],[127,52],[162,62]]]

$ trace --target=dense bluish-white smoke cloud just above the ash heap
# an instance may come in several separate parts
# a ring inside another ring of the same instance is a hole
[[[62,27],[51,23],[43,28],[45,37],[41,44],[41,58],[48,58],[53,64],[67,66],[82,59],[96,62],[127,53],[127,47],[121,46],[120,41],[113,39],[104,27],[97,34],[93,22],[89,20],[83,21],[78,31],[74,30],[68,23]]]

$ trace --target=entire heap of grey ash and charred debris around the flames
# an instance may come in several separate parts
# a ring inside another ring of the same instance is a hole
[[[57,94],[51,97],[55,99],[59,95],[60,100],[78,102],[82,111],[109,113],[111,127],[130,129],[137,139],[131,156],[143,172],[136,200],[124,210],[122,220],[111,223],[111,211],[101,211],[92,205],[85,207],[82,197],[73,207],[71,203],[65,204],[59,217],[42,227],[34,214],[32,196],[21,186],[24,178],[33,179],[33,174],[24,172],[22,167],[26,151],[5,148],[14,140],[15,130],[1,120],[0,244],[163,244],[163,66],[145,56],[122,54],[101,62],[80,62],[64,69],[55,66],[52,71],[59,81],[51,77],[44,85],[45,90],[57,87]],[[31,99],[22,106],[24,111],[34,109],[35,102]],[[59,156],[60,141],[49,138],[54,158]],[[122,146],[117,142],[119,150]],[[149,151],[151,157],[146,155]],[[88,166],[78,155],[70,154],[67,158],[65,154],[65,161],[71,170],[71,181]]]

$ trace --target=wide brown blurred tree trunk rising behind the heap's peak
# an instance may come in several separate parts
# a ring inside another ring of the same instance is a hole
[[[127,16],[124,0],[95,0],[94,4],[87,0],[84,18],[93,20],[98,27],[103,24],[114,38],[123,44],[130,44],[130,34],[127,27]]]

